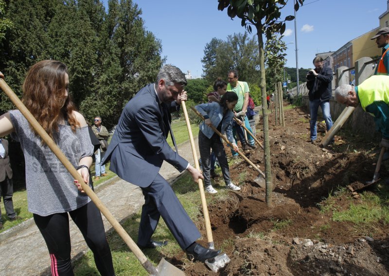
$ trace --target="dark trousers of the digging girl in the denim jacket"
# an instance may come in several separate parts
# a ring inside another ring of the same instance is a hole
[[[227,155],[224,151],[224,145],[220,137],[216,133],[214,133],[210,139],[206,137],[200,130],[198,132],[198,148],[200,151],[201,165],[203,167],[205,187],[211,185],[211,148],[215,153],[217,160],[219,160],[219,165],[222,169],[224,182],[226,183],[226,185],[230,184],[230,169],[228,167]]]

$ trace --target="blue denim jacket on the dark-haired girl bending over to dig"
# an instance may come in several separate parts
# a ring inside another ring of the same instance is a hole
[[[219,103],[212,102],[208,104],[198,104],[195,106],[198,112],[204,116],[205,119],[210,119],[214,127],[217,127],[223,119],[223,106]],[[235,143],[235,140],[232,136],[232,119],[234,118],[234,113],[229,110],[227,111],[224,120],[222,122],[221,133],[226,133],[227,139],[231,143]],[[208,138],[211,138],[214,131],[204,122],[200,124],[200,131]]]

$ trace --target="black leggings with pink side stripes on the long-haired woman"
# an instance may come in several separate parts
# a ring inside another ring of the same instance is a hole
[[[99,209],[93,202],[89,202],[83,207],[70,211],[69,215],[92,250],[100,274],[115,275],[111,250],[106,240]],[[56,213],[47,217],[34,214],[34,221],[49,249],[52,275],[73,276],[68,213]]]

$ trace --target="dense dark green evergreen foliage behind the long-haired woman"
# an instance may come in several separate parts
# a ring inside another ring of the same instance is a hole
[[[80,112],[102,116],[107,127],[165,61],[132,0],[108,0],[108,11],[100,0],[0,0],[0,48],[0,69],[18,96],[33,64],[62,61]],[[0,111],[12,108],[1,94]]]

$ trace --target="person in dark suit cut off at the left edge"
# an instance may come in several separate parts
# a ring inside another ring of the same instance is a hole
[[[14,205],[12,203],[12,195],[14,189],[12,186],[12,169],[8,156],[8,141],[0,138],[0,200],[1,196],[4,202],[4,208],[10,221],[17,219]],[[3,227],[0,209],[0,229]]]

